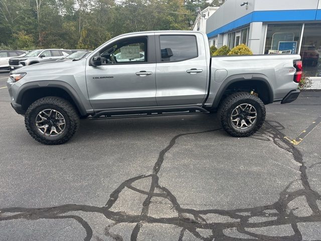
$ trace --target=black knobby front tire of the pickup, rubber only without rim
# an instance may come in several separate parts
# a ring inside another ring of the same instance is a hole
[[[64,131],[58,136],[45,136],[36,126],[36,116],[44,109],[55,109],[59,111],[66,121]],[[60,145],[69,141],[79,127],[79,115],[75,107],[67,100],[48,96],[33,102],[27,109],[25,125],[29,134],[38,142],[45,145]]]

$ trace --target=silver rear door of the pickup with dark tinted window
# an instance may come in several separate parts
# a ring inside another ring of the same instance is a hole
[[[203,35],[159,34],[155,40],[157,104],[202,104],[208,79]]]

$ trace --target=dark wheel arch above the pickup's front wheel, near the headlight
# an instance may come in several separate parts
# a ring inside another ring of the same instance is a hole
[[[57,96],[71,102],[80,115],[87,115],[77,92],[69,84],[61,81],[57,81],[59,83],[52,83],[50,81],[51,83],[44,85],[41,82],[30,82],[23,85],[16,99],[16,102],[22,105],[22,109],[27,110],[30,104],[42,97]]]

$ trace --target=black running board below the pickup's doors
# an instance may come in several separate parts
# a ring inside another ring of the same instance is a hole
[[[166,116],[180,114],[209,113],[206,109],[198,106],[193,107],[157,107],[153,109],[126,109],[126,110],[103,110],[92,114],[89,119],[115,119],[130,117]]]

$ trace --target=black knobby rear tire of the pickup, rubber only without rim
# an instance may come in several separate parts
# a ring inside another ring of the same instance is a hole
[[[256,122],[247,129],[237,129],[231,121],[232,111],[240,104],[251,104],[257,111]],[[223,129],[233,137],[249,137],[256,133],[265,120],[265,105],[262,100],[248,92],[237,92],[227,96],[221,103],[218,116]]]

